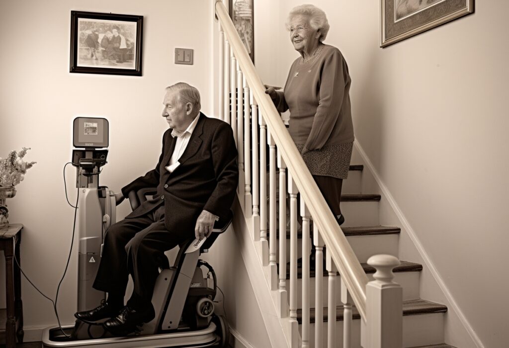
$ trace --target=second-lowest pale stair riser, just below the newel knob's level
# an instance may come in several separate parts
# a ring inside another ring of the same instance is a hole
[[[373,280],[373,274],[368,274],[370,281]],[[336,303],[341,304],[340,298],[340,277],[336,278]],[[315,307],[315,281],[316,278],[309,279],[309,303],[310,307]],[[419,299],[419,272],[397,272],[394,273],[394,281],[403,287],[403,301]],[[323,277],[322,280],[322,298],[327,303],[329,293],[329,278]],[[287,279],[287,289],[290,291],[290,280]],[[302,308],[302,279],[297,279],[297,307]]]

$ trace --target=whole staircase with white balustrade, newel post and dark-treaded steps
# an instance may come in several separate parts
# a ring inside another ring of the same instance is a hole
[[[381,196],[362,192],[363,166],[343,184],[340,228],[221,0],[215,11],[219,117],[239,150],[235,233],[272,346],[449,347],[447,307],[420,299],[422,265],[398,260],[401,230],[380,226]]]

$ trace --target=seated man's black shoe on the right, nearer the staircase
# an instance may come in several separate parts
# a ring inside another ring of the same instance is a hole
[[[154,308],[146,310],[136,310],[125,306],[120,313],[103,323],[104,329],[116,336],[127,336],[134,331],[138,331],[138,326],[150,322],[155,317]]]

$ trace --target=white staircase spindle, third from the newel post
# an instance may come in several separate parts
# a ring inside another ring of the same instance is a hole
[[[323,348],[323,239],[313,224],[315,244],[315,348]]]

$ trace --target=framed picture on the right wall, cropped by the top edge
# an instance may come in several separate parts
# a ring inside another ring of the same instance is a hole
[[[474,0],[381,0],[380,47],[473,12]]]

